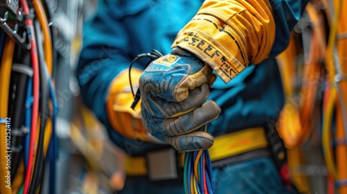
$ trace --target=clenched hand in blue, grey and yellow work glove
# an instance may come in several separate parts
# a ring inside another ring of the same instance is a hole
[[[208,64],[181,48],[151,62],[139,78],[146,130],[179,151],[210,148],[213,137],[196,130],[221,112],[205,102],[215,78]]]

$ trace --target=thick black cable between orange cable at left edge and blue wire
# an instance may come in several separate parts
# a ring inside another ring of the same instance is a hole
[[[23,49],[22,46],[16,44],[13,62],[30,67],[31,55],[30,51]],[[10,101],[8,115],[12,119],[12,133],[11,133],[11,181],[15,179],[19,161],[22,152],[22,127],[24,123],[24,106],[26,89],[28,85],[29,76],[26,73],[12,71],[10,80]],[[19,133],[16,133],[19,132]],[[14,149],[13,149],[14,148]]]

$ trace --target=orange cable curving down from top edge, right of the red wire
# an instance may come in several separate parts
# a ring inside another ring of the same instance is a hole
[[[46,66],[49,71],[49,74],[52,75],[52,66],[53,66],[52,53],[53,52],[52,52],[51,30],[49,30],[48,21],[47,21],[46,14],[44,12],[44,8],[42,6],[41,1],[33,0],[33,7],[36,10],[37,19],[40,21],[40,26],[42,28],[42,33],[44,35],[44,51],[45,51],[44,56],[46,60]]]

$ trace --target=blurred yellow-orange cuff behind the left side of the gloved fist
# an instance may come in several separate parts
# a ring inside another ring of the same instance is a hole
[[[135,91],[139,85],[139,76],[142,71],[131,70],[131,81]],[[128,69],[119,73],[112,81],[106,101],[106,111],[110,125],[122,136],[128,139],[141,139],[150,141],[142,125],[141,103],[137,103],[135,110],[130,106],[133,103],[133,94],[130,89]]]

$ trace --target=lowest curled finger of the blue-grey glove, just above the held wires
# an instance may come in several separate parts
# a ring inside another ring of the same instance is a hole
[[[213,145],[213,136],[200,131],[180,136],[165,136],[165,140],[180,152],[207,150]]]

